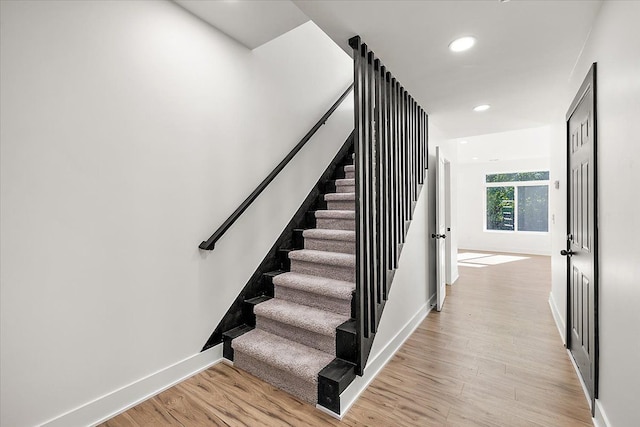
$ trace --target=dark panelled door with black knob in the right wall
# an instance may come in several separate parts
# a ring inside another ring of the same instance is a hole
[[[567,346],[597,397],[596,64],[567,113]],[[592,405],[593,407],[593,405]]]

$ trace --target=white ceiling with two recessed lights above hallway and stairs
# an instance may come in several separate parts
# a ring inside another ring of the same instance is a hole
[[[566,82],[601,0],[176,0],[255,47],[304,22],[351,53],[354,35],[429,113],[445,138],[533,128],[564,117]],[[462,35],[478,39],[454,54]],[[484,113],[472,108],[491,104]]]

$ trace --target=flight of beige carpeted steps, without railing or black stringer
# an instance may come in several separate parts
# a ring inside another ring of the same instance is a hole
[[[350,155],[351,160],[353,158]],[[336,329],[352,315],[355,290],[353,164],[337,169],[326,209],[311,213],[303,249],[283,251],[286,272],[272,274],[274,298],[253,304],[255,328],[230,336],[234,365],[316,404],[318,375],[336,358]]]

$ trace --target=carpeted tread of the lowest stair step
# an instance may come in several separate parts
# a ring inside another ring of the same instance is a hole
[[[318,372],[334,358],[323,351],[260,329],[234,339],[231,346],[234,351],[314,383],[318,380]]]

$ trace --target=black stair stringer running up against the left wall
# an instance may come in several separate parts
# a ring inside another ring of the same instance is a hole
[[[307,212],[324,208],[324,199],[321,196],[324,194],[325,186],[335,178],[336,170],[338,170],[341,165],[351,163],[350,155],[352,152],[353,132],[349,135],[327,169],[321,175],[316,185],[302,202],[300,208],[284,228],[280,237],[278,237],[276,242],[273,244],[247,284],[244,286],[242,291],[240,291],[240,294],[231,304],[227,313],[211,333],[211,336],[201,351],[205,351],[222,343],[223,334],[225,332],[231,331],[232,329],[238,328],[242,325],[251,325],[255,322],[253,313],[249,315],[247,313],[248,310],[243,309],[245,301],[259,296],[273,297],[273,275],[270,276],[269,274],[270,272],[281,270],[283,261],[281,249],[297,248],[296,244],[299,244],[299,241],[297,241],[294,236],[295,229],[315,227],[315,224],[313,223],[315,218],[311,218]]]

